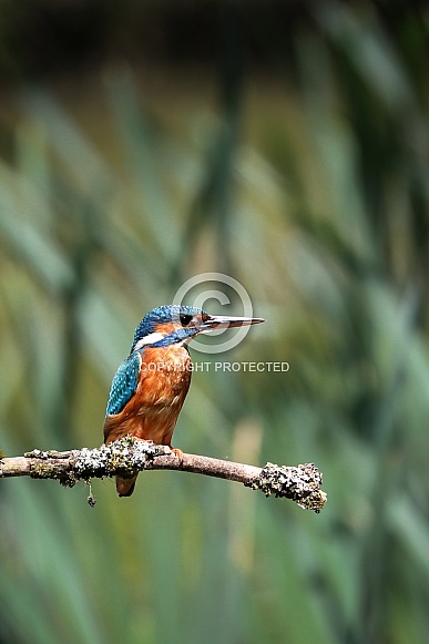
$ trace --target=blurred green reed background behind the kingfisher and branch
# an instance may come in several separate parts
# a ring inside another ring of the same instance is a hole
[[[0,1],[1,449],[99,446],[135,325],[221,272],[267,319],[222,358],[290,370],[194,374],[174,444],[313,461],[329,497],[2,481],[1,644],[428,641],[428,27],[400,0]]]

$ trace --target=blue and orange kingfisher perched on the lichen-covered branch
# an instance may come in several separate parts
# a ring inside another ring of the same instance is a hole
[[[192,376],[188,343],[198,334],[264,321],[263,318],[213,316],[202,308],[163,305],[137,325],[130,355],[120,365],[110,388],[104,443],[132,436],[168,446]],[[116,477],[119,497],[131,497],[137,476]]]

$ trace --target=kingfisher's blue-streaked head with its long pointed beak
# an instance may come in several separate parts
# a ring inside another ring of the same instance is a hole
[[[210,315],[194,306],[175,304],[159,306],[147,313],[135,329],[132,351],[143,347],[167,347],[184,344],[197,334],[219,328],[234,328],[264,321],[259,317]]]

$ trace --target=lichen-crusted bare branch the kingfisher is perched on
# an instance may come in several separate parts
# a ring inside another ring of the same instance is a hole
[[[154,444],[132,437],[116,440],[98,449],[83,448],[67,452],[33,450],[23,457],[1,458],[0,479],[7,477],[32,477],[57,479],[72,488],[79,480],[102,479],[119,474],[130,478],[143,470],[181,470],[218,479],[238,481],[247,488],[261,490],[266,497],[275,494],[292,499],[300,508],[324,508],[327,495],[320,490],[321,473],[313,463],[297,467],[267,463],[264,468],[211,459],[197,454],[183,454],[180,460],[166,446]],[[90,493],[90,505],[95,500]]]

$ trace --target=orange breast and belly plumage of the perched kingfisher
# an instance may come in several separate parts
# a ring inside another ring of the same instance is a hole
[[[146,348],[135,395],[104,423],[105,442],[126,435],[171,444],[178,413],[191,384],[191,358],[187,349],[172,345]]]

